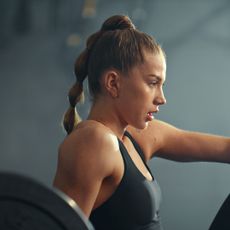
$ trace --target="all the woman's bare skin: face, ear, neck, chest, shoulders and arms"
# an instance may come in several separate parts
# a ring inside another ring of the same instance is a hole
[[[230,162],[230,140],[221,136],[177,129],[153,119],[166,103],[163,94],[166,64],[162,55],[145,53],[145,62],[129,76],[108,70],[102,76],[102,94],[88,120],[78,124],[59,148],[54,186],[72,197],[86,216],[103,204],[123,177],[124,163],[118,139],[138,170],[152,180],[127,130],[138,142],[146,162],[154,156],[177,161]]]

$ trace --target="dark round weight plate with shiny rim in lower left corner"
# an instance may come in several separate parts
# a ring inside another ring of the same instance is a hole
[[[0,173],[0,229],[93,230],[77,204],[32,178]]]

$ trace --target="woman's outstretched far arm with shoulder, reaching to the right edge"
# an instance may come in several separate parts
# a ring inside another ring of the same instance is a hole
[[[229,138],[186,131],[154,120],[137,136],[147,159],[153,156],[175,161],[229,162]]]

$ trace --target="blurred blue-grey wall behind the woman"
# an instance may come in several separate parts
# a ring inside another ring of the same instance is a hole
[[[115,13],[128,14],[166,50],[167,105],[157,118],[230,135],[228,0],[98,0],[93,18],[81,16],[82,6],[74,0],[1,1],[0,170],[51,186],[74,58],[84,39]],[[69,44],[71,34],[75,43]],[[79,108],[83,117],[88,108],[87,100]],[[229,166],[154,159],[151,168],[163,192],[165,229],[208,229],[230,191]]]

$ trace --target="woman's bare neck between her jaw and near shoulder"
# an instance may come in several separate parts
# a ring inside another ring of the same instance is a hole
[[[115,107],[102,101],[95,102],[87,120],[95,120],[108,127],[120,140],[123,139],[127,124],[120,119]]]

